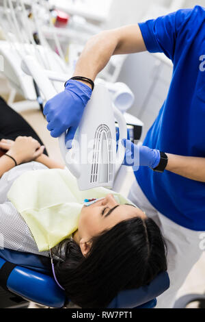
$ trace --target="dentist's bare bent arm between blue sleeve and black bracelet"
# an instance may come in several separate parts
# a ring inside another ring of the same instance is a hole
[[[74,76],[94,80],[112,55],[146,51],[139,25],[107,30],[88,40],[77,62]],[[87,84],[87,83],[86,83]]]

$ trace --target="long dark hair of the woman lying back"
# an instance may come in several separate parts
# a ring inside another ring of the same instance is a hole
[[[149,284],[167,270],[166,246],[150,218],[122,221],[92,238],[87,257],[70,241],[66,261],[55,265],[58,282],[81,308],[106,308],[121,290]]]

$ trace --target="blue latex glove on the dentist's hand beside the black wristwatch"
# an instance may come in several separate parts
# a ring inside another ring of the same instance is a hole
[[[150,166],[154,169],[160,162],[160,151],[150,149],[144,145],[134,145],[130,140],[122,140],[122,144],[126,147],[124,157],[124,165],[133,166],[136,171],[139,166]]]

